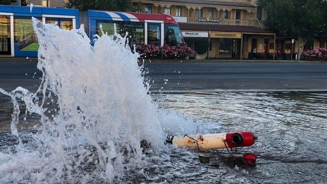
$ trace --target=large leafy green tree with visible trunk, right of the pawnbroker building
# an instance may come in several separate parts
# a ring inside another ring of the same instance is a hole
[[[258,0],[267,11],[265,26],[295,38],[298,58],[307,40],[326,35],[326,0]]]

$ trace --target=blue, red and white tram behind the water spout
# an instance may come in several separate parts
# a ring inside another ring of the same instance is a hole
[[[177,45],[184,42],[181,30],[173,17],[167,14],[142,14],[112,11],[78,11],[44,7],[0,6],[0,57],[37,57],[39,44],[32,26],[32,17],[40,22],[57,25],[64,30],[84,25],[91,44],[94,35],[125,36],[130,44]],[[102,30],[100,28],[102,25]]]

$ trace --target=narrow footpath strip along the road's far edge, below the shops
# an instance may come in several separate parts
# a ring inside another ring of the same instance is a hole
[[[0,57],[0,62],[37,62],[36,57]],[[297,61],[297,60],[269,60],[269,59],[170,59],[144,60],[145,63],[324,63],[327,61]]]

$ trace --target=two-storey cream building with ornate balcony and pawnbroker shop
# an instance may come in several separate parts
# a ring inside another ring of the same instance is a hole
[[[292,38],[266,31],[265,10],[256,0],[132,0],[133,10],[170,14],[179,23],[195,58],[290,59]],[[295,38],[296,39],[296,38]],[[305,48],[326,47],[310,40]],[[295,57],[295,56],[294,56]]]

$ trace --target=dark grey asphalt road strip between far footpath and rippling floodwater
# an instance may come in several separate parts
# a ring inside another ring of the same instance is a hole
[[[175,62],[145,67],[151,91],[327,91],[324,63]],[[41,76],[35,62],[0,62],[0,87],[5,90],[22,86],[34,91]]]

